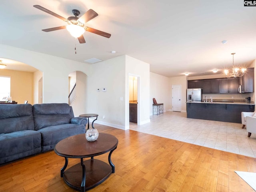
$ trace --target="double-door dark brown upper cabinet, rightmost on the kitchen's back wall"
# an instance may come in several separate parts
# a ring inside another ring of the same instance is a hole
[[[220,79],[220,93],[238,93],[238,78]]]

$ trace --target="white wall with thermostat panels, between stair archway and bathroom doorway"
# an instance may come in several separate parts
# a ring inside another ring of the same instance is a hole
[[[91,66],[92,75],[87,76],[84,113],[98,114],[95,123],[125,129],[125,99],[120,100],[120,97],[125,98],[125,56]],[[100,92],[97,92],[98,88]],[[106,92],[102,92],[102,88],[106,88]]]

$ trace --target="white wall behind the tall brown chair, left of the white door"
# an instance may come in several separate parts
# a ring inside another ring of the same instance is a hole
[[[164,112],[172,111],[172,86],[169,77],[150,72],[150,115],[153,115],[153,98],[164,104]]]

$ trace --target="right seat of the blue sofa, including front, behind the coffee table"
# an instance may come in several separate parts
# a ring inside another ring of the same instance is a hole
[[[42,151],[48,151],[52,150],[54,146],[64,138],[85,133],[85,126],[63,124],[41,128],[38,132],[42,134]]]

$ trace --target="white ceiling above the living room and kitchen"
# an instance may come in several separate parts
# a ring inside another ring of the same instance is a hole
[[[127,54],[167,77],[212,74],[256,59],[256,7],[242,0],[1,0],[0,44],[68,58],[107,60]],[[33,7],[38,4],[68,18],[72,9],[98,16],[86,26],[112,34],[84,33],[79,44],[64,29],[66,22]],[[222,40],[227,40],[222,44]],[[115,50],[116,54],[111,51]],[[0,53],[0,57],[2,57]],[[11,59],[11,58],[10,58]],[[4,59],[3,59],[4,60]]]

